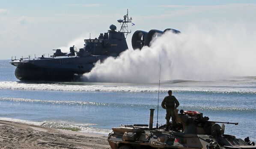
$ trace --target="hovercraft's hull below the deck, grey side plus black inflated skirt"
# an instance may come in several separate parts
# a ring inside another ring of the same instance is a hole
[[[70,58],[69,61],[71,61]],[[51,65],[39,66],[34,64],[36,61],[27,62],[11,62],[12,65],[17,66],[15,69],[15,77],[22,81],[61,81],[71,82],[80,78],[86,72],[90,72],[94,64],[68,64],[68,65]],[[44,62],[40,62],[44,63]]]

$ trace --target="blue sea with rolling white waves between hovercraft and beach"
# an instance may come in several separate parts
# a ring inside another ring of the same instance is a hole
[[[16,79],[15,66],[0,60],[0,120],[107,135],[120,124],[157,123],[158,83],[39,82]],[[202,112],[226,124],[225,134],[256,141],[256,77],[161,82],[158,123],[164,124],[161,101],[168,90],[178,109]]]

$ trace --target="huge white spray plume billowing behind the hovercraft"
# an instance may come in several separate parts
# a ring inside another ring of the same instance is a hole
[[[189,27],[182,34],[167,32],[150,47],[127,50],[116,59],[110,57],[97,63],[83,77],[97,82],[157,82],[159,63],[163,81],[256,75],[255,31],[240,25],[215,24],[211,29],[204,26]]]

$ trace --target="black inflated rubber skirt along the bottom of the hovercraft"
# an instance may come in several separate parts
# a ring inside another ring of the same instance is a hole
[[[17,67],[15,77],[22,81],[62,81],[71,82],[77,80],[85,72],[74,69]],[[78,74],[78,75],[77,75]]]

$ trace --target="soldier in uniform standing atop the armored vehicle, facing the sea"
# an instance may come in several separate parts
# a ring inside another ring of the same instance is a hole
[[[172,96],[172,91],[168,91],[168,95],[164,97],[161,106],[166,109],[166,131],[169,131],[170,118],[172,117],[173,125],[176,124],[175,109],[179,106],[179,101]]]

